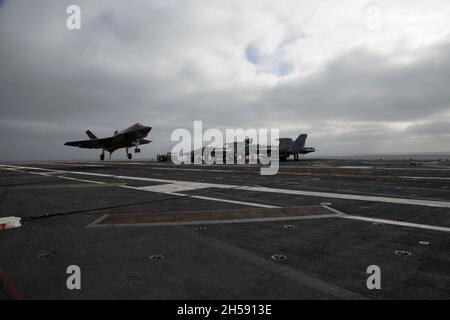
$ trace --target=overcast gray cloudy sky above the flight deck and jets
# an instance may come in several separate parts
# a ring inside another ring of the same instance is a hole
[[[194,120],[317,156],[450,151],[449,31],[447,0],[0,0],[0,161],[97,159],[64,142],[134,122],[145,159]]]

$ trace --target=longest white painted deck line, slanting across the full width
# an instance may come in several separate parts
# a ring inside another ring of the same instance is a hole
[[[5,166],[5,165],[0,165]],[[43,170],[43,171],[56,171],[52,169],[43,169],[35,167],[21,167],[21,166],[9,166],[18,169],[32,169],[32,170]],[[62,171],[67,174],[75,175],[87,175],[87,176],[97,176],[112,179],[123,179],[123,180],[135,180],[135,181],[152,181],[152,182],[164,182],[164,183],[186,183],[183,180],[166,180],[166,179],[154,179],[154,178],[142,178],[142,177],[131,177],[131,176],[116,176],[111,174],[103,173],[92,173],[92,172],[82,172],[82,171]],[[203,182],[196,182],[197,184],[202,184]],[[217,184],[217,183],[204,183],[208,187],[215,188],[235,188],[235,190],[247,190],[255,192],[269,192],[269,193],[279,193],[279,194],[290,194],[299,196],[309,196],[309,197],[321,197],[321,198],[332,198],[332,199],[346,199],[346,200],[357,200],[357,201],[371,201],[371,202],[384,202],[384,203],[395,203],[395,204],[407,204],[416,206],[426,206],[426,207],[440,207],[440,208],[450,208],[449,201],[439,201],[439,200],[422,200],[422,199],[407,199],[407,198],[394,198],[394,197],[383,197],[383,196],[364,196],[364,195],[354,195],[345,193],[332,193],[332,192],[317,192],[317,191],[303,191],[303,190],[290,190],[290,189],[277,189],[277,188],[267,188],[267,187],[252,187],[252,186],[240,186],[240,185],[227,185],[227,184]]]

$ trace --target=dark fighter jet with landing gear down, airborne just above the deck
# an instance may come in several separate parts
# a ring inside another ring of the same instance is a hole
[[[84,149],[102,149],[102,153],[100,154],[100,160],[102,161],[105,160],[105,150],[109,152],[109,158],[111,159],[111,154],[115,150],[126,148],[127,157],[128,159],[131,159],[132,155],[128,152],[128,149],[134,147],[134,153],[141,152],[139,146],[151,142],[144,139],[148,136],[150,130],[152,130],[151,127],[135,123],[125,130],[114,132],[114,136],[112,137],[101,139],[97,138],[91,131],[87,130],[86,134],[89,137],[89,140],[69,141],[64,145]]]

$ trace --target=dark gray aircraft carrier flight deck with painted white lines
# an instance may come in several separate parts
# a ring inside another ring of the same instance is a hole
[[[0,299],[450,298],[449,162],[280,166],[0,165]]]

